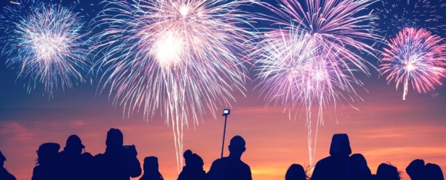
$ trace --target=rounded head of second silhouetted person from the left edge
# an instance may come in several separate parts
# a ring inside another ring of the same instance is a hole
[[[43,143],[40,145],[38,154],[38,164],[45,165],[56,161],[60,145],[58,143]]]

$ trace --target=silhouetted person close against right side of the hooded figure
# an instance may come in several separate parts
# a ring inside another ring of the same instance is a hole
[[[350,170],[353,180],[367,180],[372,178],[372,172],[363,154],[352,154],[350,156]]]

